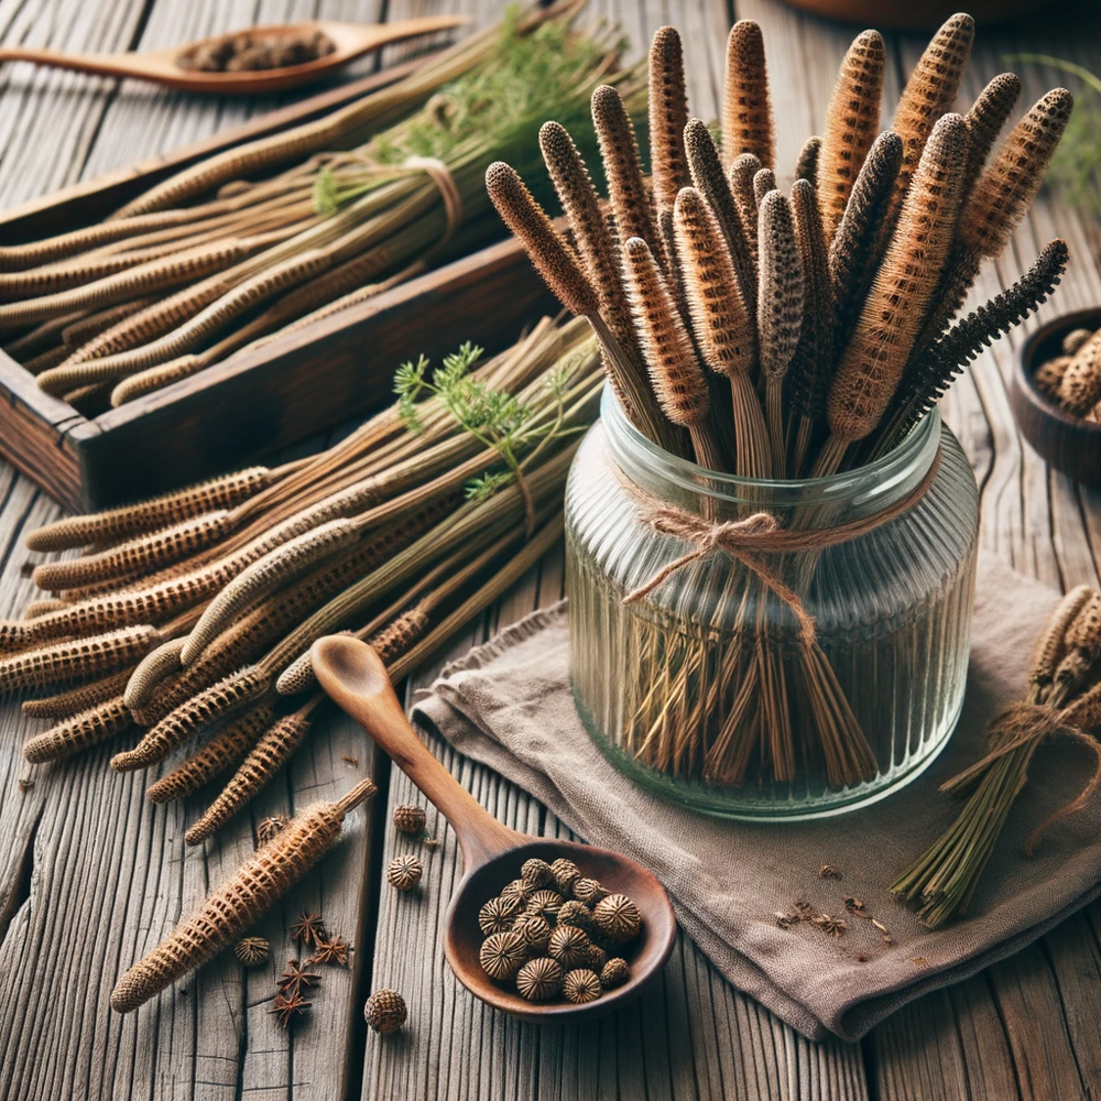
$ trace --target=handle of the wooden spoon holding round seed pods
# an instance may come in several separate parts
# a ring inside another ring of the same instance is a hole
[[[310,651],[314,673],[329,698],[347,711],[451,824],[464,871],[522,844],[428,752],[405,718],[386,667],[359,639],[329,635]]]

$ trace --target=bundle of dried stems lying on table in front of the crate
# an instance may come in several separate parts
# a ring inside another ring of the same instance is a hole
[[[426,368],[320,455],[33,532],[33,550],[85,549],[39,565],[48,599],[0,623],[0,690],[29,689],[24,710],[54,722],[26,759],[129,735],[111,760],[127,772],[186,748],[150,798],[221,776],[197,843],[308,735],[317,637],[355,631],[396,679],[531,568],[597,415],[588,326],[544,319],[484,363],[464,347]]]

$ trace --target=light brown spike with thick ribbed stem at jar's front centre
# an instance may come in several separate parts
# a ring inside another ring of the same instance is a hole
[[[750,379],[756,338],[738,293],[724,235],[707,200],[694,188],[686,187],[677,196],[675,217],[685,294],[700,355],[712,371],[730,380],[737,472],[767,478],[772,470],[768,430]]]

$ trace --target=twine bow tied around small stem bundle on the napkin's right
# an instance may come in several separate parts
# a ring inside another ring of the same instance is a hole
[[[1045,738],[1070,738],[1080,745],[1087,746],[1095,757],[1092,775],[1086,781],[1081,792],[1075,798],[1065,803],[1055,814],[1040,822],[1032,831],[1028,840],[1025,842],[1025,855],[1031,857],[1036,851],[1036,846],[1039,844],[1040,838],[1047,829],[1054,826],[1060,818],[1081,810],[1089,803],[1090,797],[1098,787],[1101,786],[1101,742],[1098,742],[1095,738],[1091,738],[1081,728],[1075,726],[1073,718],[1073,707],[1060,710],[1043,704],[1013,704],[991,722],[986,733],[986,744],[990,746],[986,755],[941,784],[940,791],[958,794],[972,787],[999,761],[1015,750],[1027,748],[1028,759],[1031,760],[1033,753],[1039,749],[1040,742]],[[1013,792],[1014,798],[1021,793],[1027,781],[1026,762],[1026,767],[1022,771],[1021,778]]]

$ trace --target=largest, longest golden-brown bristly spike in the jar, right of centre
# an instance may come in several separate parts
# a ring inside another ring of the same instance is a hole
[[[883,264],[830,385],[831,439],[819,456],[819,475],[836,469],[846,446],[876,427],[894,396],[948,257],[966,157],[967,127],[960,116],[946,115],[925,145]]]

